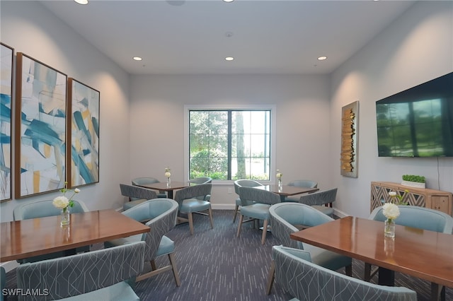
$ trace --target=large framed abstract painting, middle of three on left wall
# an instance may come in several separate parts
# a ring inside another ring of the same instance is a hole
[[[18,52],[15,112],[16,198],[62,189],[67,75]]]

